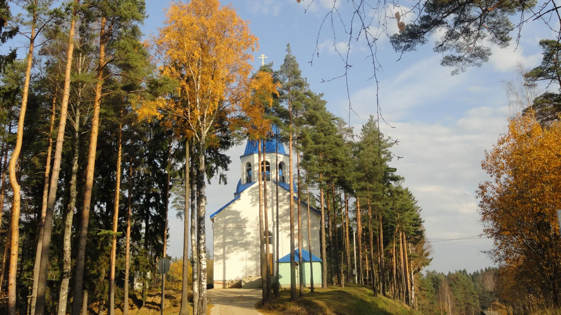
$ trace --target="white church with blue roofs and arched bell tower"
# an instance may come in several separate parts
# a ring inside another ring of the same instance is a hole
[[[260,250],[259,250],[259,183],[257,183],[258,164],[257,142],[247,141],[245,152],[240,156],[240,181],[232,201],[210,215],[214,230],[214,288],[246,288],[260,286]],[[263,150],[261,150],[263,151]],[[272,263],[272,275],[275,275],[276,261],[290,253],[290,192],[288,154],[284,146],[275,140],[265,142],[265,176],[267,185],[267,209],[269,221],[269,252],[268,257]],[[296,159],[293,159],[295,161]],[[279,257],[276,233],[276,205],[277,182],[276,172],[279,175],[278,201],[279,201]],[[296,175],[294,176],[296,180]],[[294,183],[293,183],[294,184]],[[301,192],[303,198],[305,191]],[[298,233],[298,193],[294,187],[294,225],[295,248],[298,248],[298,235],[302,237],[302,249],[309,251],[308,229],[311,229],[311,253],[320,257],[320,212],[310,207],[310,227],[307,224],[307,204],[300,201],[302,230]],[[267,234],[265,234],[267,235]],[[302,251],[304,252],[304,251]],[[298,257],[296,257],[298,260]],[[297,264],[299,265],[299,264]],[[297,266],[298,267],[298,266]],[[307,269],[308,267],[306,267]],[[282,270],[281,270],[282,271]],[[318,274],[319,272],[319,274]],[[314,270],[314,282],[320,285],[320,270]],[[309,277],[309,276],[308,276]],[[286,280],[286,279],[284,279]],[[280,282],[281,284],[283,281]],[[316,286],[314,285],[314,286]]]

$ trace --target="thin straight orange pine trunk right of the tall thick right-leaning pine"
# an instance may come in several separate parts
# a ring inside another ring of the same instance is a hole
[[[109,261],[109,306],[108,315],[115,312],[115,262],[117,259],[117,225],[119,220],[119,197],[121,197],[121,152],[123,136],[123,109],[121,108],[121,116],[119,121],[119,136],[117,140],[117,170],[115,172],[115,198],[113,202],[113,235],[111,242],[111,261]]]

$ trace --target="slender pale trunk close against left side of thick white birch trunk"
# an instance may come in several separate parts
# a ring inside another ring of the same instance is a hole
[[[189,231],[191,236],[191,267],[192,267],[192,291],[193,291],[193,315],[197,315],[199,312],[199,251],[197,246],[197,203],[196,203],[196,158],[195,158],[195,141],[191,141],[191,170],[189,172],[189,180],[191,182],[191,230]]]

